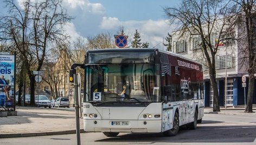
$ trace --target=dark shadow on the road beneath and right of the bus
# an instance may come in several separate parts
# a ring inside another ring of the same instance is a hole
[[[214,123],[214,122],[213,122]],[[256,126],[199,126],[196,130],[182,129],[176,136],[161,133],[131,133],[109,137],[95,142],[141,142],[141,143],[252,143],[256,139]]]

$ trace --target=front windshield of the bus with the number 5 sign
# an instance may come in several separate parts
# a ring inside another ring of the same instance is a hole
[[[154,64],[88,65],[86,73],[86,102],[149,104],[160,100]]]

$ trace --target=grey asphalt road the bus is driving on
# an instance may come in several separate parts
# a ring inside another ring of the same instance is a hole
[[[204,114],[202,124],[196,130],[182,129],[174,137],[130,133],[106,137],[102,133],[82,133],[81,144],[256,144],[255,118],[256,113],[224,110],[222,114]],[[76,135],[0,139],[0,144],[76,144]]]

